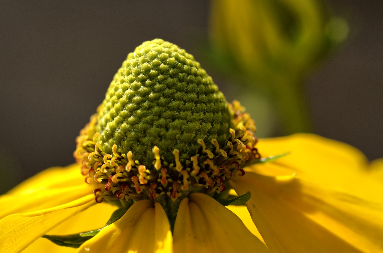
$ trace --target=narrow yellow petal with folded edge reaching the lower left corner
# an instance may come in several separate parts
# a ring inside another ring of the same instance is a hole
[[[20,252],[53,227],[94,203],[94,195],[87,195],[54,208],[25,214],[11,214],[1,219],[0,248],[2,252]]]

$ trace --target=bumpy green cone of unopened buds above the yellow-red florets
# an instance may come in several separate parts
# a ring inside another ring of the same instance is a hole
[[[228,140],[231,118],[224,95],[193,55],[162,39],[146,41],[123,62],[101,104],[96,130],[101,150],[133,152],[151,167],[158,146],[173,162],[173,149],[189,159],[203,139],[213,149]]]

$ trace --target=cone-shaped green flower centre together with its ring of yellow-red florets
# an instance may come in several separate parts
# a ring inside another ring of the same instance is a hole
[[[98,203],[177,202],[190,192],[223,192],[243,176],[242,167],[260,158],[254,131],[193,56],[156,39],[128,55],[74,156],[85,182],[97,184]]]

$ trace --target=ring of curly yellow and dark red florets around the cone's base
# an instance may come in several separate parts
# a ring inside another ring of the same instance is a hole
[[[131,151],[127,154],[117,152],[116,144],[112,154],[107,154],[99,148],[101,141],[95,141],[99,135],[95,131],[96,115],[77,137],[74,157],[82,164],[85,182],[98,183],[94,191],[98,203],[104,199],[138,201],[163,196],[175,201],[188,191],[220,193],[226,190],[225,184],[231,177],[244,175],[241,168],[244,164],[260,159],[255,148],[257,139],[252,133],[255,131],[254,121],[236,101],[229,110],[234,129],[230,129],[231,136],[226,145],[220,147],[216,139],[211,139],[214,148],[210,150],[202,139],[198,139],[200,148],[188,160],[180,159],[178,150],[174,149],[174,159],[169,164],[157,146],[152,149],[153,166],[134,161]]]

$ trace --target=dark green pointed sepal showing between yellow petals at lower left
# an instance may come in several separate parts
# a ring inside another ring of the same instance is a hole
[[[130,206],[129,206],[130,207]],[[129,208],[128,207],[128,208]],[[105,227],[112,224],[113,222],[117,221],[119,218],[121,218],[125,212],[128,209],[126,208],[119,208],[116,211],[113,212],[113,214],[110,216],[108,222],[106,222]],[[100,232],[105,227],[102,227],[101,229],[96,229],[88,232],[83,232],[79,234],[72,234],[72,235],[43,235],[43,238],[47,238],[53,243],[56,243],[60,246],[66,246],[66,247],[72,247],[72,248],[78,248],[80,245],[93,236],[97,235],[98,232]]]

